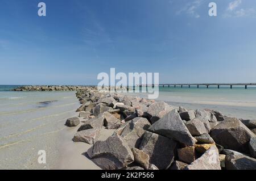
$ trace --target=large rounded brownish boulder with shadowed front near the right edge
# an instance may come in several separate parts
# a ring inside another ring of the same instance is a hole
[[[214,127],[210,132],[210,136],[217,144],[224,146],[226,149],[249,153],[248,144],[255,134],[240,120],[229,118]]]

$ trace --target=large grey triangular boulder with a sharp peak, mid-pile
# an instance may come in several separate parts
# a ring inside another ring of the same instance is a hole
[[[152,124],[149,129],[154,133],[161,134],[168,138],[173,138],[185,145],[195,145],[195,140],[183,123],[183,120],[181,120],[177,110],[172,110],[167,113],[161,119],[156,121],[156,123]]]

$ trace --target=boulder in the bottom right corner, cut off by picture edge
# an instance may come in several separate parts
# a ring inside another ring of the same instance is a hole
[[[227,170],[256,170],[256,159],[243,154],[226,155]]]

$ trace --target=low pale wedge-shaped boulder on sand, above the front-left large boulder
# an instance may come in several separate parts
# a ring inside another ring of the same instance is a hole
[[[100,136],[100,129],[86,129],[77,132],[73,138],[74,142],[86,142],[87,144],[94,144]]]

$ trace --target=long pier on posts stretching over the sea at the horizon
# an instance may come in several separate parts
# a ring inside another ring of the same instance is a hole
[[[155,85],[140,85],[142,86],[152,86],[154,87]],[[248,86],[256,86],[256,83],[160,83],[158,85],[159,87],[162,86],[168,86],[168,87],[184,87],[187,86],[190,88],[191,86],[199,88],[200,86],[205,86],[207,89],[209,86],[216,86],[218,89],[220,89],[221,86],[230,86],[230,89],[233,88],[233,86],[244,86],[245,89],[247,89]]]

